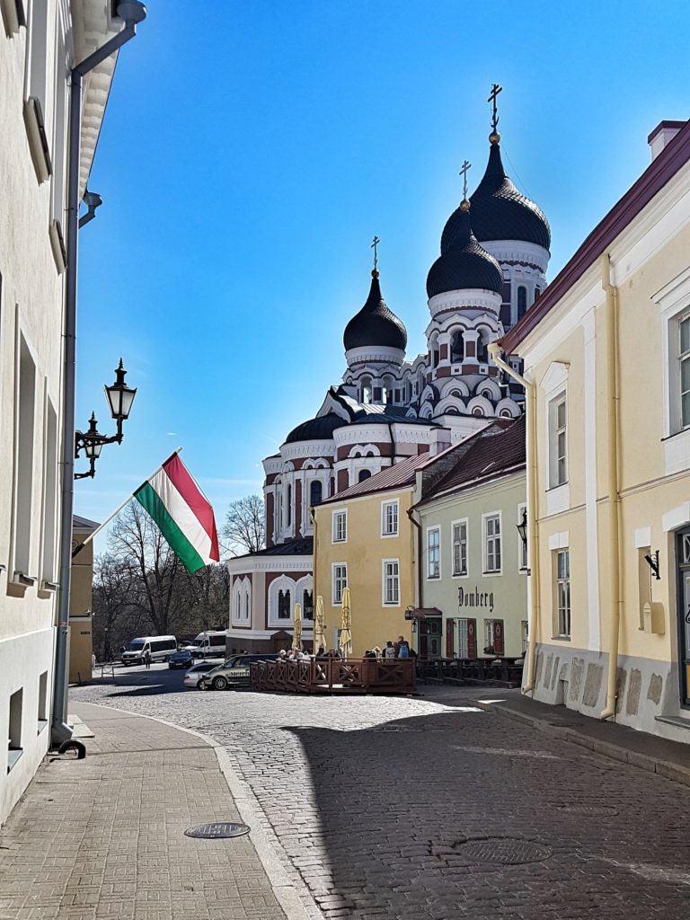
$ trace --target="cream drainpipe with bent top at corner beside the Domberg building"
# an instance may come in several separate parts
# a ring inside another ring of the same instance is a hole
[[[530,563],[530,617],[528,625],[529,641],[527,643],[527,683],[523,685],[523,694],[535,695],[536,639],[539,630],[540,592],[539,592],[539,515],[536,507],[537,463],[536,463],[536,386],[522,374],[518,374],[508,362],[500,357],[498,342],[489,343],[489,354],[500,370],[508,374],[524,387],[525,416],[527,420],[527,513],[529,514],[529,563]]]

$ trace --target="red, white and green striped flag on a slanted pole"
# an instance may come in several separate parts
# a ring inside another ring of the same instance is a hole
[[[213,508],[187,467],[173,454],[134,492],[158,525],[173,552],[190,572],[221,557]]]

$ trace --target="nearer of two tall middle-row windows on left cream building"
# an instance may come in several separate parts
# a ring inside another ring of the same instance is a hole
[[[24,337],[19,337],[19,380],[17,411],[17,466],[15,469],[14,560],[15,576],[29,576],[31,517],[33,512],[34,416],[36,409],[36,365]]]

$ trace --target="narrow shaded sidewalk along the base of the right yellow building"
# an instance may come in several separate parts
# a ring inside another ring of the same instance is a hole
[[[556,738],[690,786],[690,744],[668,741],[627,725],[590,719],[564,706],[548,706],[511,692],[507,700],[477,702],[495,715],[519,719]]]

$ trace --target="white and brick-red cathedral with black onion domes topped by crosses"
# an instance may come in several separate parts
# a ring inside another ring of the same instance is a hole
[[[502,378],[488,345],[546,287],[551,234],[546,215],[503,167],[498,91],[486,171],[448,218],[441,254],[427,275],[425,351],[408,359],[408,333],[385,303],[374,257],[369,293],[343,334],[342,383],[263,461],[267,548],[228,564],[230,641],[237,650],[282,648],[297,602],[309,638],[310,507],[410,454],[437,453],[523,411],[522,391]],[[509,361],[518,367],[518,359]]]

